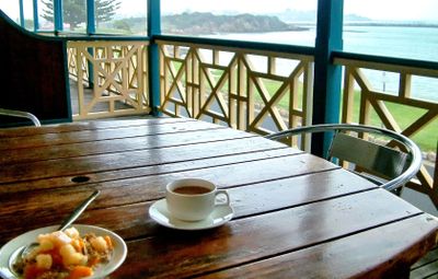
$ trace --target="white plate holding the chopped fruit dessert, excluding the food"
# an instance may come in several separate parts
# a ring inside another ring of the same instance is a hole
[[[87,225],[87,224],[73,224],[76,229],[78,229],[79,233],[81,235],[87,234],[87,233],[94,233],[95,235],[110,235],[110,237],[114,242],[114,251],[113,255],[111,257],[111,260],[106,264],[103,264],[99,266],[95,270],[92,277],[88,277],[88,279],[92,278],[103,278],[114,270],[116,270],[122,263],[126,258],[126,254],[128,252],[128,248],[126,247],[126,244],[124,240],[115,234],[112,231],[105,230],[103,228],[94,226],[94,225]],[[12,241],[8,242],[4,244],[3,247],[0,249],[0,277],[4,278],[20,278],[16,277],[15,274],[10,269],[10,263],[14,263],[14,258],[16,255],[13,255],[14,252],[16,252],[19,248],[22,246],[35,242],[36,236],[42,233],[50,233],[57,230],[59,225],[51,225],[51,226],[46,226],[46,228],[41,228],[36,229],[26,233],[23,233],[22,235],[16,236]],[[15,253],[16,254],[16,253]],[[12,256],[12,257],[11,257]]]

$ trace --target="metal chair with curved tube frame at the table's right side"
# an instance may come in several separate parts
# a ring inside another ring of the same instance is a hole
[[[334,132],[327,152],[327,160],[338,159],[355,165],[355,173],[372,181],[380,187],[400,194],[403,185],[416,175],[422,165],[419,148],[407,137],[392,130],[353,124],[322,124],[292,128],[265,136],[267,139],[285,139],[300,133]],[[365,140],[345,132],[384,136],[391,144],[397,142],[404,151],[388,144]],[[382,179],[383,178],[383,179]]]

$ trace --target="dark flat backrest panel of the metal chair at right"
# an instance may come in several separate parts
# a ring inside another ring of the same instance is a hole
[[[332,158],[348,161],[373,175],[392,179],[405,170],[408,154],[344,132],[336,132],[328,151],[328,160],[332,161]]]

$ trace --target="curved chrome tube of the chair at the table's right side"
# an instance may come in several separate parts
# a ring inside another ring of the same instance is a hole
[[[415,144],[406,136],[397,133],[392,130],[378,128],[373,126],[367,125],[355,125],[355,124],[320,124],[320,125],[312,125],[312,126],[303,126],[293,129],[288,129],[279,132],[275,132],[272,135],[265,136],[267,139],[279,139],[284,137],[289,137],[298,133],[307,133],[307,132],[324,132],[324,131],[336,131],[336,130],[349,130],[349,131],[361,131],[361,132],[373,132],[380,133],[383,136],[388,136],[393,140],[399,141],[402,143],[406,149],[407,152],[411,154],[411,165],[401,173],[397,177],[384,183],[381,185],[382,188],[387,190],[393,190],[397,188],[400,185],[408,182],[412,177],[414,177],[419,167],[422,166],[422,151],[419,150],[418,146]]]

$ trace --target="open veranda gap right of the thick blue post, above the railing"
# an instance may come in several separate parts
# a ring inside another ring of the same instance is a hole
[[[436,11],[436,0],[345,0],[344,50],[438,61]]]

